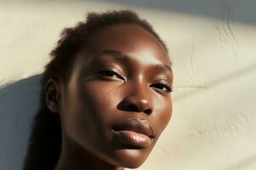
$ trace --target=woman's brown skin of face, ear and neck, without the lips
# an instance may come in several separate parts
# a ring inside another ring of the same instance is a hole
[[[172,116],[173,75],[165,48],[141,26],[121,24],[97,31],[75,57],[67,84],[50,79],[45,88],[46,104],[61,116],[55,170],[141,166]],[[131,117],[150,122],[154,138],[147,146],[113,138],[113,124]]]

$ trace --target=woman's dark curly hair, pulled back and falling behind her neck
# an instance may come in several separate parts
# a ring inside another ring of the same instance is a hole
[[[114,10],[100,14],[89,13],[84,22],[79,22],[72,28],[65,28],[61,32],[61,38],[56,47],[50,52],[50,62],[45,65],[41,79],[41,107],[32,123],[32,134],[23,170],[52,170],[61,154],[61,119],[58,114],[49,111],[45,104],[44,87],[48,80],[54,78],[56,81],[68,82],[74,56],[86,46],[88,38],[106,26],[123,23],[142,26],[158,39],[168,53],[166,44],[148,21],[140,19],[131,10]]]

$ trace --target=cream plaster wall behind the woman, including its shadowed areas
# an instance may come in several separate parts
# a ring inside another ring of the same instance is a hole
[[[131,8],[166,41],[173,115],[140,170],[256,169],[256,1],[0,2],[0,169],[20,170],[39,78],[64,27]]]

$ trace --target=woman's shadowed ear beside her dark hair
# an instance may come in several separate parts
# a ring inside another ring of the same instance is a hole
[[[58,83],[50,78],[44,87],[45,103],[50,111],[57,113],[61,108],[61,92]]]

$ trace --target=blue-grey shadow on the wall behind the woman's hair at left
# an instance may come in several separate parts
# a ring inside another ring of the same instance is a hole
[[[32,119],[40,105],[41,75],[0,88],[0,169],[20,170]]]

